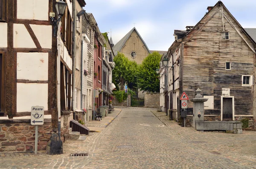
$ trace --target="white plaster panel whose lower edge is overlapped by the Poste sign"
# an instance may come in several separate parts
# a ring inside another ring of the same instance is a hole
[[[48,110],[48,84],[17,83],[17,112],[31,112],[32,106]]]

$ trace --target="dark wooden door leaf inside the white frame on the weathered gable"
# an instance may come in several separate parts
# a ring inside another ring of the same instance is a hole
[[[222,120],[232,121],[233,120],[233,99],[223,98],[222,100]]]

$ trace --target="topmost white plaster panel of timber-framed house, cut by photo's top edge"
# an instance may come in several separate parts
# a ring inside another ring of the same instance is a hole
[[[49,0],[17,0],[17,19],[49,20]]]

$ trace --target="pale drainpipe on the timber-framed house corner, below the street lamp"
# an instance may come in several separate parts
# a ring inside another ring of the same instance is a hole
[[[57,107],[58,107],[58,137],[61,139],[61,22],[58,24],[58,58],[57,58]]]

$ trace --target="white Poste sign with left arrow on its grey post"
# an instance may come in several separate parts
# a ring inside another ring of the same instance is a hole
[[[38,125],[44,124],[44,107],[32,106],[31,107],[31,125],[35,125],[35,154],[38,149]]]

